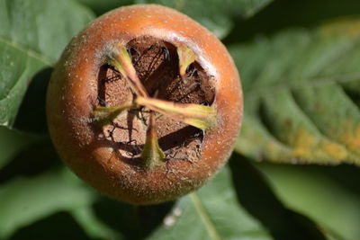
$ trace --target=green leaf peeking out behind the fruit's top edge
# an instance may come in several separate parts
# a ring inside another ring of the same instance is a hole
[[[233,28],[235,17],[250,17],[272,0],[136,0],[137,4],[162,4],[200,22],[223,39]]]

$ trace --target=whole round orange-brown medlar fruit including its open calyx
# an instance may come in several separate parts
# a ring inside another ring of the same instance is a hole
[[[47,93],[58,155],[98,191],[132,204],[175,200],[211,179],[229,159],[242,106],[220,40],[155,4],[90,22]]]

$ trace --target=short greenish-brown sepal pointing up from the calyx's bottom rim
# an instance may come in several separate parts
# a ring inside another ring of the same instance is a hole
[[[148,130],[146,135],[146,142],[141,153],[140,159],[143,161],[144,167],[147,170],[165,163],[165,153],[158,145],[157,129],[155,125],[154,112],[150,111],[148,120]]]

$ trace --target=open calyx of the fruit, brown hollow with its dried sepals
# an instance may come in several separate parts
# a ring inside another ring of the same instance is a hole
[[[132,158],[139,159],[145,170],[172,158],[191,160],[189,156],[193,150],[185,151],[185,155],[182,151],[183,155],[176,156],[179,148],[186,148],[192,138],[200,138],[216,123],[216,109],[211,105],[214,99],[211,76],[196,61],[193,50],[184,44],[175,46],[145,37],[130,43],[112,44],[106,49],[104,58],[107,74],[104,74],[103,81],[107,89],[100,94],[94,108],[94,123],[106,129],[107,138],[119,144],[136,146],[127,149],[130,149]],[[112,72],[110,76],[109,71]],[[115,92],[111,90],[116,84],[112,86],[109,82],[115,78],[123,82],[129,96],[121,101],[112,101],[121,97],[113,96]],[[112,96],[109,97],[109,94]],[[130,112],[131,116],[142,121],[141,125],[145,128],[135,129],[130,124]],[[127,124],[123,127],[117,120],[126,114]],[[179,129],[179,124],[191,127]],[[126,143],[121,142],[121,137],[114,137],[116,129],[119,129],[118,135],[129,136],[132,131],[136,131],[134,135],[142,136],[139,131],[143,131],[143,144],[138,144],[131,136]],[[162,136],[159,142],[157,131],[163,129],[166,129],[167,137]],[[180,137],[176,141],[170,136]]]

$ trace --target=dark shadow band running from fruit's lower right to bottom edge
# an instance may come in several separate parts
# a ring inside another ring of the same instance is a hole
[[[229,164],[239,203],[275,239],[326,239],[311,219],[284,207],[263,175],[245,157],[234,154]]]

